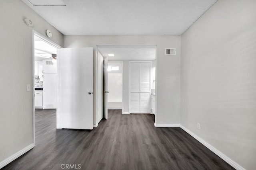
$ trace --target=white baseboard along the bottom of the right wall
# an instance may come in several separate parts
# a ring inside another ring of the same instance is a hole
[[[196,140],[198,140],[200,143],[202,143],[205,147],[207,147],[208,149],[210,149],[212,152],[214,152],[216,155],[220,156],[220,158],[222,158],[224,161],[226,161],[228,164],[230,164],[231,166],[233,166],[233,168],[235,168],[236,170],[245,170],[242,166],[240,166],[239,164],[237,164],[236,162],[234,162],[232,159],[230,159],[228,156],[226,156],[225,154],[223,154],[222,152],[220,152],[218,149],[214,148],[212,145],[210,145],[209,143],[207,143],[206,141],[204,141],[203,139],[201,139],[200,137],[198,137],[196,134],[194,134],[192,131],[188,130],[186,127],[180,125],[180,128],[183,129],[184,131],[186,131],[186,133],[188,133],[189,135],[191,135],[192,137],[194,137]]]

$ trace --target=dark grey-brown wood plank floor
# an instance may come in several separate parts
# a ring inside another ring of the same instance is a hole
[[[92,131],[56,129],[56,110],[36,109],[36,146],[3,169],[233,169],[182,129],[154,127],[154,115],[109,110],[108,116]]]

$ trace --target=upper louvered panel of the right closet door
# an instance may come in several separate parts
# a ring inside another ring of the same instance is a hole
[[[150,63],[140,63],[140,92],[150,92]]]

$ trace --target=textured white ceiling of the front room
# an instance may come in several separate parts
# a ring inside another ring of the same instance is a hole
[[[181,35],[216,2],[216,0],[22,1],[64,35]],[[30,2],[39,6],[33,6]],[[47,4],[51,6],[42,6]]]

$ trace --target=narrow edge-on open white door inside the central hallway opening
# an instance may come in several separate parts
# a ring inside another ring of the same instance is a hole
[[[103,117],[108,120],[108,58],[103,61]]]

